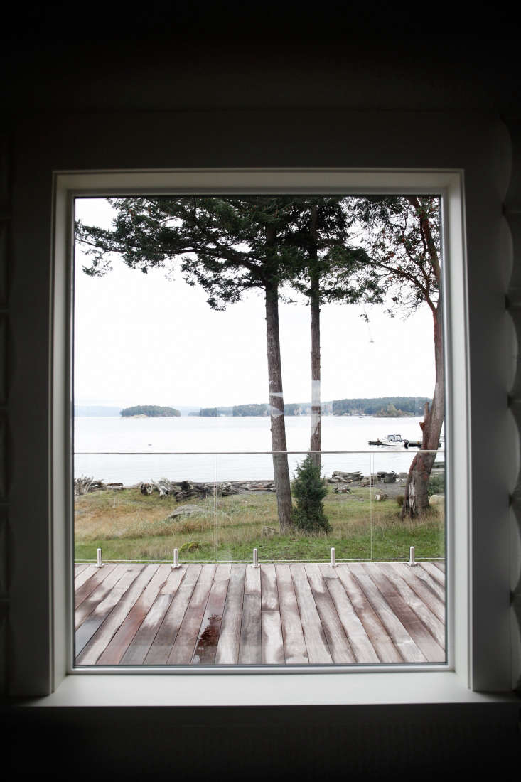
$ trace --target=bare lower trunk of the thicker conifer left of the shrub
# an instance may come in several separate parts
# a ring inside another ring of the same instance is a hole
[[[277,495],[278,523],[281,533],[292,526],[291,488],[289,486],[288,457],[286,454],[286,425],[284,422],[284,396],[282,395],[282,368],[280,360],[280,339],[278,335],[278,285],[267,285],[266,293],[266,339],[268,343],[268,382],[270,391],[271,450],[282,451],[273,454],[273,473]]]

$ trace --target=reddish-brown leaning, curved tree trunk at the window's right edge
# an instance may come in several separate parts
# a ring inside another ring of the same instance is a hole
[[[435,451],[440,444],[440,432],[444,422],[444,346],[441,332],[441,303],[433,311],[434,321],[434,357],[436,361],[436,384],[433,401],[426,403],[423,414],[422,450],[415,455],[409,468],[405,483],[405,497],[401,516],[416,518],[429,507],[429,478],[433,468]]]

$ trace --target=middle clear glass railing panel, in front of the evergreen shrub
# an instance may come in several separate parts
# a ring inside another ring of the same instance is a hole
[[[217,457],[217,561],[250,562],[257,549],[261,562],[328,562],[332,547],[339,561],[370,559],[371,454],[321,454],[322,522],[302,511],[299,517],[295,479],[306,452],[275,457],[287,459],[293,507],[287,529],[281,529],[272,454]]]

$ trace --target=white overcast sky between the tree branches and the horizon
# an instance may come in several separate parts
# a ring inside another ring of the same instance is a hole
[[[77,199],[84,224],[110,228],[104,199]],[[75,274],[76,404],[224,406],[268,401],[264,298],[250,292],[225,312],[202,289],[160,270],[142,274],[122,261],[102,278]],[[432,396],[433,319],[423,306],[407,320],[382,307],[322,307],[322,400]],[[286,402],[311,397],[310,310],[280,304]]]

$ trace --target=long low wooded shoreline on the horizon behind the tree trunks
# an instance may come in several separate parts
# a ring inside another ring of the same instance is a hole
[[[322,415],[368,415],[379,418],[405,418],[411,415],[423,415],[427,396],[379,396],[373,399],[336,399],[323,402]],[[230,407],[201,407],[199,416],[217,418],[218,416],[258,416],[268,415],[267,404],[235,404]],[[285,415],[310,415],[311,404],[289,403],[284,405]],[[196,412],[189,415],[197,415]]]

